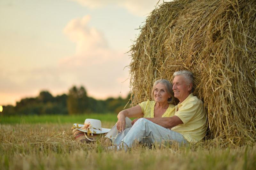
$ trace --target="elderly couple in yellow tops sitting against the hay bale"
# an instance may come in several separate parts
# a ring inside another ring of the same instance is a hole
[[[110,149],[127,149],[141,143],[196,143],[206,133],[204,104],[193,96],[193,73],[183,70],[173,74],[172,84],[164,79],[154,83],[153,101],[142,102],[117,115],[116,125],[105,136]],[[178,105],[172,101],[179,99]],[[138,117],[131,121],[129,117]]]

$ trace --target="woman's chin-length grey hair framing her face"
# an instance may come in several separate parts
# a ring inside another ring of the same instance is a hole
[[[159,80],[155,81],[154,86],[153,86],[152,91],[151,91],[152,100],[154,100],[154,91],[155,91],[156,85],[159,84],[159,83],[164,84],[167,93],[171,96],[170,98],[168,98],[167,103],[172,103],[173,100],[174,100],[174,93],[172,91],[172,84],[170,83],[170,81],[168,81],[166,79],[159,79]]]

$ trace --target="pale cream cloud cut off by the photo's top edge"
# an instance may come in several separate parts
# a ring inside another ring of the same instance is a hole
[[[90,9],[102,8],[108,4],[116,5],[128,10],[133,15],[144,16],[155,9],[159,0],[71,0]],[[158,4],[164,1],[160,0]]]

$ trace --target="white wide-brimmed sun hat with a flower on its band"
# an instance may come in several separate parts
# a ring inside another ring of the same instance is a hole
[[[73,128],[72,128],[74,135],[75,135],[75,132],[77,133],[77,130],[75,130],[75,129],[77,129],[81,132],[84,132],[84,136],[89,141],[95,141],[100,136],[97,134],[108,133],[110,131],[110,129],[108,129],[108,128],[102,128],[101,121],[97,120],[97,119],[85,119],[84,125],[74,123]]]

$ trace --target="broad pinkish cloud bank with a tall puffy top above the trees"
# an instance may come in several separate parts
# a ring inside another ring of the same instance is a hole
[[[76,44],[76,51],[57,65],[9,73],[0,70],[0,104],[14,104],[12,97],[33,97],[40,90],[60,94],[73,85],[84,86],[96,98],[126,96],[129,73],[123,69],[130,63],[129,56],[126,51],[110,49],[104,35],[88,26],[90,19],[86,15],[67,23],[63,33]]]

